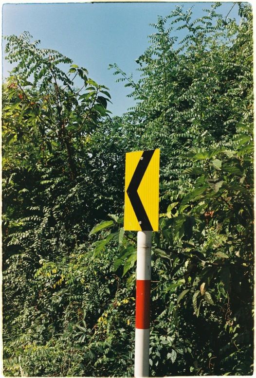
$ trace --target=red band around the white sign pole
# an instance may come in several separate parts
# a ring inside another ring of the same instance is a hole
[[[150,324],[150,280],[136,281],[135,327],[148,329]]]

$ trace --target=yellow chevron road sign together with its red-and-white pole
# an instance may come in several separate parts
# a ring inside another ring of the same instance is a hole
[[[160,150],[126,154],[124,229],[138,231],[134,377],[149,376],[152,231],[158,231]]]

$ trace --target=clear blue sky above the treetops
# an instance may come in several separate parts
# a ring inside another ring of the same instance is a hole
[[[57,50],[73,59],[74,64],[89,71],[96,83],[110,88],[113,105],[109,109],[113,115],[122,115],[134,106],[133,100],[126,97],[131,90],[122,82],[115,83],[117,76],[108,66],[116,63],[137,80],[135,59],[148,47],[147,36],[155,32],[148,24],[156,23],[158,15],[167,16],[176,4],[183,4],[185,11],[193,5],[196,18],[202,16],[203,8],[211,6],[206,2],[6,3],[2,8],[2,35],[19,36],[28,31],[33,40],[40,39],[41,48]],[[225,17],[233,5],[223,2],[218,13]],[[238,19],[238,4],[228,17]],[[179,33],[182,37],[183,31]],[[2,69],[6,77],[11,66],[3,60]]]

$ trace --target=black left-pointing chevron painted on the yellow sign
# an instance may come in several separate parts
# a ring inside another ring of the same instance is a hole
[[[150,224],[140,196],[137,192],[141,180],[146,172],[146,168],[153,156],[155,150],[144,151],[141,159],[138,162],[138,165],[133,173],[133,176],[130,180],[129,186],[127,188],[127,194],[130,199],[131,206],[133,207],[134,213],[138,219],[138,222],[141,226],[142,231],[153,231],[153,228]]]

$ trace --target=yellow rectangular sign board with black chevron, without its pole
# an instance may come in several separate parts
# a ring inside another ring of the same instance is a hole
[[[126,153],[125,220],[129,231],[158,231],[160,149]]]

